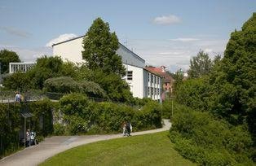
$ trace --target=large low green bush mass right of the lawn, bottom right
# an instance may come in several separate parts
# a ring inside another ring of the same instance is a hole
[[[252,138],[244,125],[215,120],[208,112],[179,107],[175,111],[170,139],[187,159],[204,165],[250,163]]]

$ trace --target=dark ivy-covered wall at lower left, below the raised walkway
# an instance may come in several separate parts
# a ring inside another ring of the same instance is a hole
[[[30,119],[27,118],[26,128],[37,133],[37,139],[53,132],[52,114],[55,104],[50,100],[42,100],[33,103],[1,103],[0,104],[0,158],[19,149],[19,133],[24,126],[24,118],[20,112],[29,111],[33,114]]]

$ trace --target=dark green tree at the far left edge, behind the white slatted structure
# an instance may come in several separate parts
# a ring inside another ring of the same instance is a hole
[[[19,55],[11,50],[0,50],[1,73],[9,72],[9,63],[11,62],[19,63]]]

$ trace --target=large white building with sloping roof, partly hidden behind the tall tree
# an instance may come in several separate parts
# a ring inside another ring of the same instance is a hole
[[[82,37],[76,37],[68,41],[55,43],[53,55],[60,56],[64,60],[73,63],[82,63]],[[152,98],[161,101],[161,77],[145,69],[145,60],[140,58],[126,46],[119,43],[117,54],[121,56],[126,68],[126,82],[130,85],[130,91],[137,98]]]

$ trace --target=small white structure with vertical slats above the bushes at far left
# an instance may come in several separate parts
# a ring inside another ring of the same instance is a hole
[[[36,63],[9,63],[9,73],[13,72],[27,72]]]

